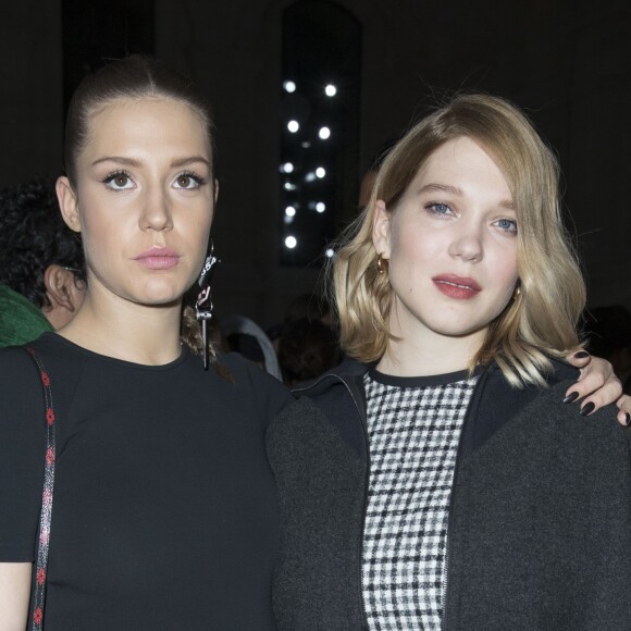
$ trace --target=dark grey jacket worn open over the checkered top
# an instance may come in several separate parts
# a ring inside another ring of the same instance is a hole
[[[495,366],[480,375],[451,496],[446,631],[631,629],[631,432],[614,406],[581,417],[564,405],[576,371],[555,367],[549,389],[515,391]],[[268,430],[281,507],[281,631],[366,623],[369,463],[354,444],[362,401],[344,385],[358,372],[301,391]],[[355,429],[338,431],[345,424]]]

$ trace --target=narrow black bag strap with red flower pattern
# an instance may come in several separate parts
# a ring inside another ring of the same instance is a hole
[[[52,491],[54,487],[54,408],[50,389],[50,376],[35,350],[25,347],[39,371],[44,387],[44,409],[46,417],[46,451],[44,468],[44,492],[41,495],[41,514],[39,516],[39,536],[37,540],[37,559],[35,562],[35,592],[30,607],[30,631],[44,629],[44,607],[46,604],[46,582],[48,572],[48,547],[50,540],[50,519],[52,516]]]

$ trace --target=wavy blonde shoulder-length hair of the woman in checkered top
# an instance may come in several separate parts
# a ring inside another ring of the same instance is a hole
[[[338,242],[331,271],[344,351],[363,362],[379,360],[394,336],[388,330],[393,292],[380,274],[372,226],[378,200],[396,212],[419,169],[438,147],[458,137],[478,143],[503,172],[516,205],[519,292],[488,326],[469,369],[497,361],[515,386],[544,385],[549,357],[580,347],[577,324],[585,286],[564,228],[559,171],[552,151],[529,120],[504,99],[459,95],[412,127],[384,160],[370,201]]]

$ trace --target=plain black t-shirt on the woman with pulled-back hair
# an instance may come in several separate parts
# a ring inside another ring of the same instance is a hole
[[[264,450],[285,387],[239,356],[231,379],[183,347],[147,367],[54,333],[34,345],[57,421],[47,631],[273,629],[277,506]],[[44,399],[0,350],[0,561],[33,561]]]

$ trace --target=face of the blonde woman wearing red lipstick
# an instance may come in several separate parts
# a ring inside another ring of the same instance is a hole
[[[467,137],[431,154],[394,211],[378,203],[373,242],[389,259],[389,325],[404,342],[470,337],[479,346],[518,280],[510,189]]]

